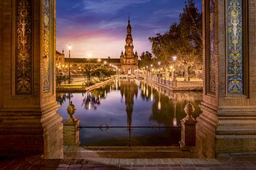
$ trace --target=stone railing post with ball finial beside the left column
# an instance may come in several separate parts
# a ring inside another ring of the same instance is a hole
[[[72,101],[67,108],[68,111],[68,119],[65,120],[64,123],[64,130],[63,130],[63,142],[64,145],[73,145],[78,146],[80,145],[79,140],[79,124],[80,120],[74,117],[75,113],[75,105],[73,105]]]

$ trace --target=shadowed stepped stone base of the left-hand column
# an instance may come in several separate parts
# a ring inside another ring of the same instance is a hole
[[[2,111],[0,157],[63,158],[63,123],[55,110],[43,114],[41,111]]]

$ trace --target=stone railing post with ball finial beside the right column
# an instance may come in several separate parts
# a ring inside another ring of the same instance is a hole
[[[196,120],[192,117],[195,111],[193,105],[188,102],[184,108],[186,118],[181,120],[181,147],[196,146]]]

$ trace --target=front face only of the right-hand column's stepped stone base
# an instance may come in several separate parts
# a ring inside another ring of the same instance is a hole
[[[218,112],[215,153],[256,152],[256,113],[255,111]],[[245,110],[245,108],[243,109]]]

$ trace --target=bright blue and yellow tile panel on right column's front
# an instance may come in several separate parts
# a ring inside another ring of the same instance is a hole
[[[227,8],[227,91],[242,95],[242,0],[228,0]]]

